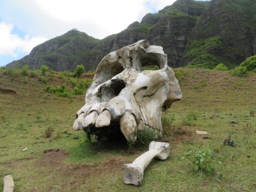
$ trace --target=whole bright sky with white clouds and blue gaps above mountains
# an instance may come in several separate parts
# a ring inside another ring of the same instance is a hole
[[[175,0],[0,0],[0,66],[76,28],[102,39]]]

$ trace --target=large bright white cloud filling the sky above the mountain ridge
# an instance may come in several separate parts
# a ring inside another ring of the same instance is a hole
[[[0,18],[35,36],[54,38],[77,28],[95,38],[104,38],[173,2],[175,0],[8,0],[1,3]]]

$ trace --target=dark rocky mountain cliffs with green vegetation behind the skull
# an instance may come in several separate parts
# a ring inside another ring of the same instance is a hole
[[[71,30],[36,46],[7,67],[47,65],[61,71],[74,70],[82,63],[90,70],[110,51],[147,39],[164,48],[169,66],[212,69],[223,62],[232,68],[256,54],[255,10],[254,0],[178,0],[102,40]]]

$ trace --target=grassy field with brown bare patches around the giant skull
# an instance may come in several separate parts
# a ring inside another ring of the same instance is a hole
[[[84,95],[62,98],[44,91],[62,83],[72,89],[72,77],[47,75],[41,83],[38,74],[25,77],[0,69],[0,177],[11,174],[15,191],[255,191],[256,74],[239,78],[186,68],[176,73],[183,99],[163,114],[161,140],[170,143],[172,153],[165,161],[154,159],[142,185],[135,187],[123,184],[122,165],[148,144],[129,148],[126,143],[89,142],[83,132],[73,132]],[[53,129],[50,138],[47,129]],[[196,131],[207,131],[209,139]],[[228,138],[236,147],[223,145]],[[209,148],[221,161],[213,174],[195,173],[182,158],[196,148]]]

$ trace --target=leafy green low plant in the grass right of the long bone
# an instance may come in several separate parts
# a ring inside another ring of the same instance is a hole
[[[193,163],[195,172],[214,173],[217,163],[209,148],[190,150],[185,153],[185,157]],[[219,164],[221,164],[220,161]]]

